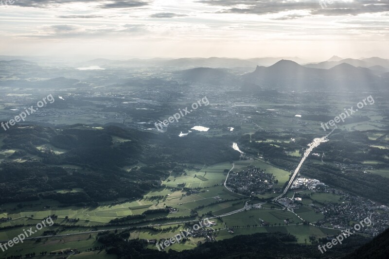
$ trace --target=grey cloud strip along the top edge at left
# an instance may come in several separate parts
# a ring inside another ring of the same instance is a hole
[[[101,3],[98,8],[137,8],[149,5],[148,1],[143,0],[19,0],[15,5],[22,7],[35,8],[52,8],[56,6],[71,4],[71,3]]]

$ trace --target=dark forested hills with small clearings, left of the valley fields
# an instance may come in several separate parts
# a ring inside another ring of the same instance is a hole
[[[78,205],[141,197],[159,187],[179,163],[239,159],[229,137],[193,133],[179,138],[166,133],[161,138],[115,126],[23,126],[1,132],[0,139],[7,154],[0,157],[0,204],[39,196]],[[74,188],[84,191],[54,191]]]

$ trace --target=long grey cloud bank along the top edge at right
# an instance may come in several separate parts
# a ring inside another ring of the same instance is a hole
[[[266,15],[286,11],[309,11],[311,15],[338,16],[389,11],[389,1],[381,0],[198,0],[221,6],[217,13]],[[288,18],[288,17],[286,17]]]

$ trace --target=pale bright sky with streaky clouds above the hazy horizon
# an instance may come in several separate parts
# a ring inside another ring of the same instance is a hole
[[[389,0],[0,1],[0,55],[389,58]]]

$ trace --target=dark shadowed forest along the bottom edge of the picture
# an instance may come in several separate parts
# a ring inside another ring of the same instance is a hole
[[[159,252],[145,248],[140,240],[124,239],[118,234],[110,233],[99,238],[106,245],[109,254],[116,254],[119,259],[220,259],[220,258],[340,258],[351,253],[356,247],[366,243],[368,239],[353,236],[342,245],[334,246],[321,254],[314,245],[296,244],[295,236],[285,233],[256,233],[253,235],[235,236],[218,242],[199,244],[191,250],[177,252]],[[239,249],[237,249],[239,248]]]

